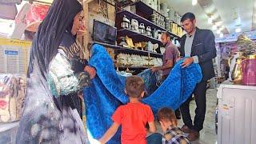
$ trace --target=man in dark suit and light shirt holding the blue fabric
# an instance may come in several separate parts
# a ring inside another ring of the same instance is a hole
[[[190,117],[190,98],[182,104],[181,112],[184,126],[182,131],[189,133],[188,138],[194,141],[199,138],[206,114],[206,84],[207,80],[214,77],[214,66],[212,59],[216,57],[214,34],[211,30],[200,30],[195,26],[194,14],[186,13],[181,19],[182,26],[187,34],[181,38],[179,49],[184,59],[182,66],[190,66],[191,63],[199,63],[202,69],[202,81],[194,89],[196,102],[194,124]],[[192,98],[192,96],[191,96]]]

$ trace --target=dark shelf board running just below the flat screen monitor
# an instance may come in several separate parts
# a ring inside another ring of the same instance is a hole
[[[116,53],[142,54],[146,56],[150,54],[150,57],[162,58],[162,54],[158,54],[158,53],[154,53],[146,50],[135,50],[135,49],[130,49],[122,46],[110,45],[102,42],[90,42],[90,45],[94,45],[94,44],[99,44],[102,46],[106,46],[107,48],[112,48],[116,51]]]

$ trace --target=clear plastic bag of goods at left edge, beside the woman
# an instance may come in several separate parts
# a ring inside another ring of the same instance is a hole
[[[25,91],[25,75],[0,74],[0,122],[19,120]]]

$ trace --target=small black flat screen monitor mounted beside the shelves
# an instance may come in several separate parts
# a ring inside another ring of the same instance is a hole
[[[99,22],[94,19],[93,40],[95,42],[103,42],[115,45],[117,38],[117,28],[109,26],[106,23]]]

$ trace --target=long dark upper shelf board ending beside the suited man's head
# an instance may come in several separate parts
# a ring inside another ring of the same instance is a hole
[[[143,2],[142,2],[143,3]],[[144,4],[146,5],[146,4]],[[148,6],[149,7],[149,6]],[[139,16],[138,14],[134,14],[130,11],[127,11],[127,10],[121,10],[117,13],[117,17],[118,18],[122,18],[123,15],[126,15],[128,18],[130,19],[136,19],[138,21],[138,23],[144,23],[145,27],[146,26],[150,26],[151,30],[154,30],[152,28],[155,28],[157,30],[162,30],[162,31],[168,31],[166,30],[165,28],[161,27],[161,26],[158,26],[156,24],[154,24],[153,22],[150,22],[149,20],[147,20],[146,18],[142,18],[141,16]],[[120,23],[121,24],[121,23]],[[168,31],[168,33],[170,35],[172,35],[173,37],[176,37],[176,38],[180,38],[178,35],[176,34],[173,34],[171,33],[170,31]]]

